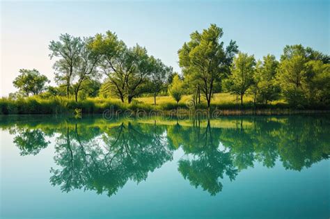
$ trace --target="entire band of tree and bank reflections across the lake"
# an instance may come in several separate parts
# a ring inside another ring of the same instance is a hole
[[[146,180],[179,148],[184,152],[178,161],[182,177],[211,195],[222,190],[224,178],[235,180],[255,162],[272,168],[277,161],[285,169],[301,171],[330,154],[329,115],[47,123],[5,117],[0,127],[14,135],[21,155],[36,155],[49,145],[48,137],[54,139],[52,185],[65,192],[96,190],[109,196],[129,180]]]

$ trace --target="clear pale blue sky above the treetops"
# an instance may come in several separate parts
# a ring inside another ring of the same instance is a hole
[[[211,23],[223,41],[262,58],[285,44],[329,54],[330,1],[1,1],[1,89],[14,92],[19,69],[36,68],[54,84],[48,44],[61,33],[90,36],[110,30],[180,72],[177,51]]]

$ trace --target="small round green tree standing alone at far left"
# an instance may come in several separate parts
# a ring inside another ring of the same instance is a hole
[[[39,95],[43,90],[46,89],[45,84],[50,81],[47,79],[47,76],[40,74],[38,70],[19,70],[19,76],[17,76],[13,84],[15,88],[19,89],[25,96]]]

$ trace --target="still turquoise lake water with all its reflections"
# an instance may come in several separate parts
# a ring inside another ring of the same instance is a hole
[[[2,116],[0,218],[329,218],[330,115]]]

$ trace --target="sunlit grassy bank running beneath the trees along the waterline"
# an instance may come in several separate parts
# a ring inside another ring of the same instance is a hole
[[[187,113],[191,110],[191,97],[186,95],[179,102],[180,113]],[[171,97],[157,97],[157,105],[153,105],[153,97],[139,97],[134,99],[132,104],[122,103],[119,99],[104,99],[104,98],[88,98],[75,102],[74,99],[65,97],[53,97],[50,99],[42,99],[40,97],[27,97],[24,99],[0,99],[0,114],[72,114],[75,109],[81,109],[82,113],[97,114],[103,113],[106,110],[123,113],[130,110],[136,113],[140,111],[162,111],[164,113],[173,113],[177,108],[175,101]],[[205,111],[206,103],[202,100],[196,108],[200,111]],[[239,102],[234,95],[228,93],[215,94],[212,99],[211,111],[221,111],[223,115],[236,115],[241,113]],[[290,114],[299,112],[329,110],[327,107],[317,108],[290,108],[283,101],[271,102],[267,105],[254,106],[252,98],[244,99],[244,114]],[[171,112],[172,111],[172,112]],[[176,111],[175,111],[176,112]]]

